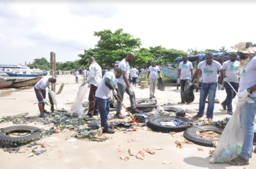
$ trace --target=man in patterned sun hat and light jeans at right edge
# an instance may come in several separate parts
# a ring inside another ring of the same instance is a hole
[[[231,165],[248,165],[253,147],[254,119],[256,116],[256,48],[251,42],[239,43],[231,48],[239,51],[239,57],[244,60],[241,64],[239,98],[247,99],[241,107],[241,128],[243,133],[243,146],[240,156],[229,161]],[[251,99],[254,102],[249,101]]]

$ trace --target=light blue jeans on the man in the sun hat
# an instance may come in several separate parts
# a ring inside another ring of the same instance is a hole
[[[241,108],[241,126],[243,130],[244,143],[240,156],[249,160],[252,152],[254,119],[256,116],[256,97],[251,97],[254,103],[245,103]]]

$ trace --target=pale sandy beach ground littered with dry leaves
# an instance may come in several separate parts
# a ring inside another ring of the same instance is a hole
[[[81,76],[79,83],[75,83],[74,75],[59,75],[57,77],[56,91],[58,91],[61,82],[65,83],[61,94],[56,95],[58,103],[74,102],[77,91],[81,84]],[[0,90],[0,118],[3,116],[13,116],[29,112],[29,116],[39,114],[37,99],[34,93],[34,87],[25,89],[2,89]],[[135,88],[136,99],[149,98],[149,88]],[[195,101],[191,104],[178,105],[180,101],[180,90],[176,87],[166,87],[165,91],[156,90],[156,100],[159,105],[170,102],[173,106],[183,109],[199,108],[199,94],[195,93]],[[83,101],[88,101],[87,93]],[[219,92],[219,98],[223,101],[226,97],[225,91]],[[47,97],[48,100],[48,97]],[[236,99],[234,99],[236,100]],[[234,102],[233,100],[233,102]],[[130,100],[127,94],[124,96],[124,104],[130,105]],[[233,107],[235,104],[233,103]],[[71,107],[70,107],[71,108]],[[50,106],[46,106],[50,110]],[[124,109],[122,109],[124,112]],[[230,117],[226,110],[222,109],[221,104],[215,104],[214,121],[222,120],[225,117]],[[127,121],[128,117],[124,120]],[[119,120],[120,121],[120,120]],[[254,121],[256,123],[256,121]],[[0,128],[14,125],[12,122],[1,123]],[[42,124],[29,123],[28,125],[41,128]],[[49,129],[51,126],[47,126]],[[65,129],[67,130],[67,129]],[[105,142],[91,142],[84,140],[76,140],[76,142],[68,142],[66,137],[74,134],[74,131],[67,130],[65,133],[57,133],[51,135],[59,139],[55,145],[41,155],[27,157],[31,153],[31,148],[26,148],[24,153],[7,153],[0,149],[0,164],[1,168],[243,168],[244,166],[231,166],[222,163],[209,163],[209,150],[214,148],[203,147],[196,144],[183,144],[183,148],[177,148],[176,139],[184,140],[183,132],[178,132],[176,137],[172,135],[161,135],[158,132],[144,131],[139,129],[133,132],[116,132],[115,134],[105,134],[112,136],[110,140]],[[72,137],[70,137],[72,138]],[[127,143],[128,139],[138,138],[142,142]],[[124,145],[124,150],[118,152],[119,145]],[[156,150],[156,154],[148,154],[143,148],[161,147],[163,150]],[[199,151],[198,148],[203,149]],[[120,156],[129,156],[128,149],[134,153],[144,151],[144,160],[139,160],[135,156],[130,156],[130,160],[124,162]],[[171,164],[162,164],[163,161],[172,161]],[[246,168],[256,167],[256,154],[252,153],[250,164]]]

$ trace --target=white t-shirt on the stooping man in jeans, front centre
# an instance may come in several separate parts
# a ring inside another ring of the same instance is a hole
[[[103,76],[102,80],[99,83],[99,87],[96,91],[95,96],[101,99],[108,99],[110,96],[110,89],[105,85],[105,78],[108,77],[111,79],[112,86],[114,89],[117,89],[116,76],[113,72],[107,72]]]

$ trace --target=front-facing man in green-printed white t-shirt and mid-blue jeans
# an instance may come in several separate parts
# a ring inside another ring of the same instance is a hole
[[[208,98],[206,118],[208,119],[209,122],[212,122],[212,118],[214,118],[216,89],[217,87],[218,87],[218,90],[222,89],[221,84],[223,82],[224,72],[221,64],[217,61],[214,61],[214,55],[212,55],[211,52],[208,52],[205,55],[205,61],[202,61],[198,64],[197,70],[193,75],[191,82],[189,83],[189,86],[193,86],[193,82],[200,70],[202,71],[203,82],[200,89],[199,112],[196,116],[193,117],[193,119],[203,117],[205,101],[208,95],[209,98]],[[218,71],[220,71],[221,73],[219,85],[218,85],[218,77],[217,77]]]

